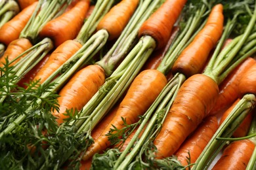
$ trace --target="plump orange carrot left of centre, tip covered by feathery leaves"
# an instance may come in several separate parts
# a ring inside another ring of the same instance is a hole
[[[64,118],[68,118],[64,115],[66,109],[81,110],[104,82],[104,70],[99,65],[89,65],[75,73],[60,90],[60,97],[58,97],[60,107],[58,111],[53,112],[58,124],[61,124]]]

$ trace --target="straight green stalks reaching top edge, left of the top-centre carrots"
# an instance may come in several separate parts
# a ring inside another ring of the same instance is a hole
[[[81,27],[81,30],[75,38],[78,42],[84,44],[89,37],[91,37],[96,29],[96,26],[108,12],[108,10],[110,10],[113,3],[114,0],[98,0],[96,2],[95,9],[93,9],[91,16],[89,16],[89,18],[85,21],[85,24],[83,24],[83,27]]]

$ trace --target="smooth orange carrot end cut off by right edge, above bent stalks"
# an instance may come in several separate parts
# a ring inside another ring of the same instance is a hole
[[[240,97],[247,93],[256,95],[256,63],[252,65],[242,76],[239,85]]]

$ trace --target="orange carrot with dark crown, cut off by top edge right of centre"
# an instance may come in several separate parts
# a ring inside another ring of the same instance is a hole
[[[177,21],[186,0],[166,0],[140,27],[139,37],[150,35],[157,44],[156,49],[163,48],[171,36],[173,25]]]

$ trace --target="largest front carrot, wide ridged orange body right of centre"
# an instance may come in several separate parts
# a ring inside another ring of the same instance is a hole
[[[181,86],[161,131],[154,140],[156,158],[173,155],[215,104],[219,88],[206,75],[190,76]]]

